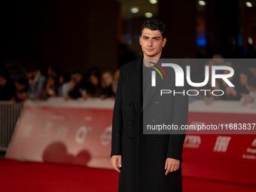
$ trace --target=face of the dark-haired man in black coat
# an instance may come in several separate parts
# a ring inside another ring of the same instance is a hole
[[[142,45],[144,59],[159,59],[166,44],[166,38],[163,38],[159,30],[143,29],[139,44]]]

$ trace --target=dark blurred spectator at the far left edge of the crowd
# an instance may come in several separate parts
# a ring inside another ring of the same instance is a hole
[[[8,74],[0,73],[0,101],[9,101],[14,97],[15,87]]]

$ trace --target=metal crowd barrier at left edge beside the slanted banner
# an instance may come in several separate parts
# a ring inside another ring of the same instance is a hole
[[[14,133],[23,102],[0,102],[0,151],[6,151]]]

